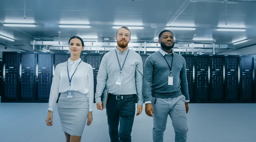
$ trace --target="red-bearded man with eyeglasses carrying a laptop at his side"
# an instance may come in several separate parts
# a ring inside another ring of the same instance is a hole
[[[111,142],[130,142],[138,96],[137,116],[142,112],[143,62],[141,56],[128,48],[131,33],[127,26],[117,30],[117,47],[107,52],[101,60],[97,75],[95,101],[102,109],[101,95],[109,90],[106,114]],[[106,87],[106,88],[105,88]],[[120,122],[120,128],[118,126]]]

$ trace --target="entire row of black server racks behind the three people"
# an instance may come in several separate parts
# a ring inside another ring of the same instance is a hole
[[[80,56],[83,61],[93,67],[94,93],[96,92],[98,69],[104,54],[82,52]],[[146,57],[150,54],[140,55],[144,64]],[[69,56],[70,54],[66,52],[4,52],[1,101],[47,103],[51,86],[49,82],[52,81],[54,69],[57,64],[67,61]],[[205,103],[209,100],[215,103],[256,102],[255,56],[182,56],[187,66],[191,103],[193,100],[197,103]],[[197,75],[197,71],[204,74]],[[202,77],[203,80],[200,79]]]

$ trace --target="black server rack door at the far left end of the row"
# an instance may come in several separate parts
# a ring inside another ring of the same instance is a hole
[[[19,54],[3,54],[3,95],[1,100],[17,100],[19,79]]]

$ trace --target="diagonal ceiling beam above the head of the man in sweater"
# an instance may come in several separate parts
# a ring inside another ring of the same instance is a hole
[[[166,22],[166,24],[159,29],[159,31],[155,34],[154,38],[158,36],[162,29],[166,27],[167,24],[171,24],[179,15],[185,10],[185,8],[190,4],[190,0],[184,0],[184,2],[180,5],[180,7],[174,12],[172,17]]]

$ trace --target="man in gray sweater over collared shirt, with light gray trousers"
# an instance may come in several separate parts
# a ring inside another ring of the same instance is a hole
[[[159,34],[159,51],[147,57],[143,75],[145,111],[153,117],[153,142],[163,142],[168,115],[172,119],[175,142],[187,141],[188,82],[184,57],[173,52],[174,35]]]

